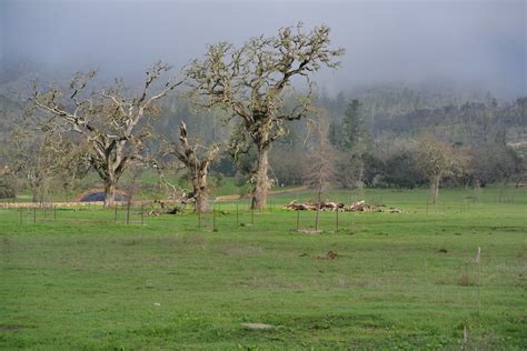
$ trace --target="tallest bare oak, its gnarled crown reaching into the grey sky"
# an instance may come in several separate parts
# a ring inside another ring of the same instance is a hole
[[[187,69],[190,96],[203,108],[220,107],[240,118],[232,147],[247,150],[239,141],[252,143],[258,153],[252,174],[252,208],[266,207],[269,189],[268,151],[286,134],[285,122],[308,113],[310,76],[322,66],[337,68],[344,49],[330,49],[330,29],[317,27],[306,33],[302,24],[282,28],[275,37],[250,39],[241,48],[228,42],[208,47],[202,60]],[[285,92],[292,91],[291,80],[301,78],[308,92],[288,106]]]

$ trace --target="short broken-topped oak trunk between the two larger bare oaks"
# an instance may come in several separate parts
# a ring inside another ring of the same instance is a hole
[[[173,143],[168,153],[176,156],[187,169],[187,174],[192,183],[196,212],[206,213],[209,211],[207,176],[210,162],[218,156],[219,146],[213,143],[210,147],[203,147],[197,142],[192,144],[185,122],[181,122],[179,132],[179,143]]]

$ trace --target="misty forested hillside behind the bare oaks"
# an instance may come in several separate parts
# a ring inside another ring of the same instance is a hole
[[[46,80],[51,76],[30,64],[1,72],[0,137],[3,144],[0,164],[4,188],[21,191],[39,187],[41,181],[31,184],[28,179],[48,177],[43,174],[46,172],[41,171],[40,176],[36,172],[36,168],[42,167],[38,150],[42,150],[44,132],[31,128],[33,107],[30,99],[34,77]],[[68,76],[60,72],[54,77]],[[109,81],[102,78],[102,83]],[[68,84],[66,78],[54,82]],[[417,157],[422,136],[432,137],[456,150],[456,158],[463,166],[446,177],[447,182],[473,185],[475,182],[519,182],[525,174],[527,156],[527,98],[500,101],[488,92],[467,89],[454,93],[445,89],[439,83],[435,87],[429,82],[426,88],[405,84],[354,87],[336,96],[329,96],[325,89],[316,90],[312,106],[326,116],[329,128],[328,134],[322,137],[330,141],[336,156],[331,166],[335,168],[334,187],[426,185],[428,180]],[[296,96],[287,99],[294,103]],[[229,117],[221,109],[200,109],[185,94],[168,96],[149,122],[158,137],[149,140],[148,150],[155,154],[163,144],[177,143],[181,121],[197,144],[206,147],[216,142],[228,146],[237,128]],[[307,120],[286,122],[287,133],[274,143],[269,156],[269,177],[274,185],[307,181],[306,169],[312,152],[316,152],[314,146],[320,139],[315,132],[319,120],[320,113],[312,112]],[[71,142],[76,143],[78,140],[71,137]],[[248,149],[236,157],[231,151],[228,147],[221,148],[220,157],[211,164],[211,174],[235,177],[238,185],[250,182],[255,150]],[[86,163],[79,162],[81,166]],[[176,176],[178,169],[170,167],[168,172]],[[78,169],[74,181],[92,171]],[[183,177],[181,171],[178,174]],[[76,187],[71,179],[56,178],[60,180],[54,179],[50,187],[59,187],[58,183]]]

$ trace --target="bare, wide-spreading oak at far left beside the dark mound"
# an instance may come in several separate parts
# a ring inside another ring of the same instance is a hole
[[[91,166],[105,182],[106,205],[113,205],[119,179],[132,160],[141,158],[146,140],[151,137],[148,120],[156,116],[156,101],[176,89],[182,81],[173,79],[151,92],[160,77],[170,69],[158,62],[146,72],[138,96],[130,97],[118,82],[115,88],[87,91],[95,72],[77,73],[69,91],[34,89],[33,102],[49,118],[43,126],[59,126],[72,131],[91,146]]]

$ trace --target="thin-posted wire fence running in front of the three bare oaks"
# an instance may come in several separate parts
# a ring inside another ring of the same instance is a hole
[[[346,218],[351,213],[320,212],[319,229],[342,229]],[[223,231],[252,230],[264,228],[271,230],[274,225],[288,230],[314,229],[316,212],[286,211],[281,204],[270,202],[265,210],[252,210],[250,203],[212,203],[208,213],[195,213],[187,208],[173,214],[152,210],[149,203],[120,203],[113,208],[101,204],[81,204],[61,207],[54,203],[41,203],[33,207],[0,208],[0,225],[54,225],[101,224],[101,225],[149,225],[156,223],[173,223],[185,230]],[[252,228],[251,228],[252,227]]]

